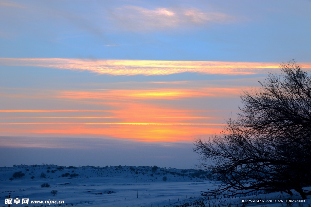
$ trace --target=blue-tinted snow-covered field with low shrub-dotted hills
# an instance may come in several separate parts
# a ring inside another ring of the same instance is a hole
[[[14,173],[24,173],[13,178]],[[42,174],[43,173],[43,174]],[[67,173],[67,174],[66,174]],[[42,176],[41,176],[42,174]],[[31,178],[33,177],[33,179]],[[44,178],[45,177],[45,178]],[[163,178],[167,178],[166,181]],[[246,195],[245,197],[222,197],[207,200],[200,194],[213,183],[206,181],[206,174],[194,169],[163,169],[151,166],[80,166],[18,165],[0,168],[0,207],[11,193],[11,198],[29,200],[64,200],[60,206],[191,206],[236,207],[243,206],[241,199],[301,199],[298,194],[271,193]],[[136,185],[137,182],[137,185]],[[48,183],[50,187],[40,187]],[[138,198],[137,198],[138,189]],[[53,196],[52,190],[57,190]],[[309,199],[308,199],[309,200]],[[247,206],[279,207],[282,205],[306,206],[304,203],[260,203]],[[59,204],[31,204],[28,206],[58,206]],[[200,204],[199,204],[200,202]],[[15,205],[26,206],[21,203]]]

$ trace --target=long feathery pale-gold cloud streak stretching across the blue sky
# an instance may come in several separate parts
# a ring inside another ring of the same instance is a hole
[[[109,75],[169,75],[184,72],[202,74],[266,74],[279,63],[220,61],[86,60],[66,58],[0,58],[0,65],[34,66],[89,71]],[[311,68],[311,63],[302,63]]]

